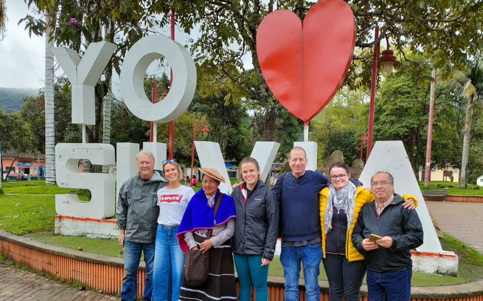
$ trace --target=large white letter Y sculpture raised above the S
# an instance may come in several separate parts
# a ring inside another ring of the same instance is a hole
[[[52,49],[72,84],[72,123],[96,124],[94,87],[115,49],[116,45],[109,42],[91,43],[82,59],[72,49]]]

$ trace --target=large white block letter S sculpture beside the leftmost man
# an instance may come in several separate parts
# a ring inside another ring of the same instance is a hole
[[[55,145],[55,170],[57,185],[65,188],[86,188],[91,191],[91,201],[82,202],[77,195],[55,195],[55,211],[59,215],[109,218],[114,215],[114,191],[116,180],[111,174],[81,173],[79,160],[88,159],[92,164],[114,165],[114,146],[103,143],[59,143]]]

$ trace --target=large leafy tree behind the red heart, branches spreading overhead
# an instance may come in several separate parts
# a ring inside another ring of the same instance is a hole
[[[191,52],[198,68],[200,91],[208,95],[221,94],[228,102],[252,102],[264,108],[259,118],[261,140],[273,140],[276,130],[277,100],[268,89],[260,72],[256,55],[256,32],[261,20],[278,9],[294,12],[301,20],[313,6],[313,1],[287,0],[171,0],[137,3],[121,0],[113,14],[133,12],[134,18],[160,14],[160,26],[169,24],[167,12],[175,9],[178,25],[187,33],[199,32]],[[369,87],[374,44],[387,34],[393,47],[406,56],[406,49],[425,49],[436,69],[448,77],[453,66],[469,67],[468,55],[483,48],[483,38],[475,35],[483,24],[483,1],[415,0],[349,0],[357,23],[353,66],[345,85],[351,88]],[[380,36],[374,40],[374,28],[380,26]],[[435,42],[437,41],[437,43]],[[290,59],[290,58],[287,58]],[[246,68],[244,62],[253,67]],[[414,74],[420,71],[418,62],[405,60]],[[423,78],[429,82],[430,75]],[[261,118],[262,117],[262,118]]]

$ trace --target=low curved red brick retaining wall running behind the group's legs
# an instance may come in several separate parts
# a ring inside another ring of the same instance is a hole
[[[83,252],[59,247],[0,231],[0,254],[38,273],[46,273],[62,280],[77,281],[96,290],[120,293],[123,258]],[[138,270],[138,296],[142,296],[145,268]],[[411,301],[483,301],[481,282],[438,287],[413,287]],[[329,301],[327,281],[320,281],[320,300]],[[268,277],[269,300],[283,301],[283,278]],[[473,286],[477,286],[473,289]],[[299,301],[305,301],[303,285],[299,286]],[[237,282],[238,290],[238,282]],[[361,301],[368,301],[365,285]],[[254,291],[252,291],[254,296]],[[444,296],[444,297],[442,297]],[[253,297],[253,300],[255,297]]]

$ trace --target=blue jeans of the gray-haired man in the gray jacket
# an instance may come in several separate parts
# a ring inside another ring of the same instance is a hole
[[[154,262],[154,243],[136,243],[124,241],[124,276],[122,277],[121,300],[134,301],[137,296],[137,268],[141,260],[141,251],[146,263],[143,300],[151,299],[152,265]]]

